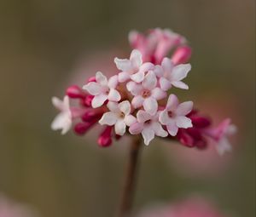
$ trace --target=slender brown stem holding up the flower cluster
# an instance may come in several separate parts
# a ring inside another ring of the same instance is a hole
[[[142,138],[133,136],[129,153],[129,161],[125,171],[125,185],[121,196],[118,217],[129,217],[136,183],[137,163]]]

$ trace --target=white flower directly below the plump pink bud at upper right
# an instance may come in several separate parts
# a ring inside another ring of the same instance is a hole
[[[172,86],[179,89],[189,89],[189,86],[181,80],[187,77],[190,70],[190,64],[173,66],[172,60],[164,58],[161,66],[155,66],[154,73],[160,77],[160,88],[166,91],[171,89]]]

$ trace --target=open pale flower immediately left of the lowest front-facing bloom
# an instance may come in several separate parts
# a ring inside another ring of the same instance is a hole
[[[110,111],[103,114],[100,124],[113,126],[116,134],[125,134],[126,126],[131,126],[136,122],[136,117],[133,117],[131,113],[131,105],[128,100],[121,103],[108,102],[108,109]]]

